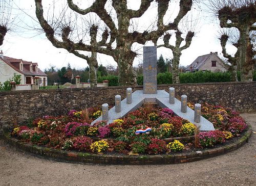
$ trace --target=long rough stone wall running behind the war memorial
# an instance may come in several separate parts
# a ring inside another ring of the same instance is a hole
[[[241,112],[256,111],[256,82],[159,85],[158,90],[175,87],[176,97],[188,96],[194,103],[208,102]],[[69,110],[114,105],[114,97],[125,97],[125,86],[0,92],[0,130],[4,125],[24,123],[29,118],[67,114]],[[143,90],[143,86],[134,86]]]

